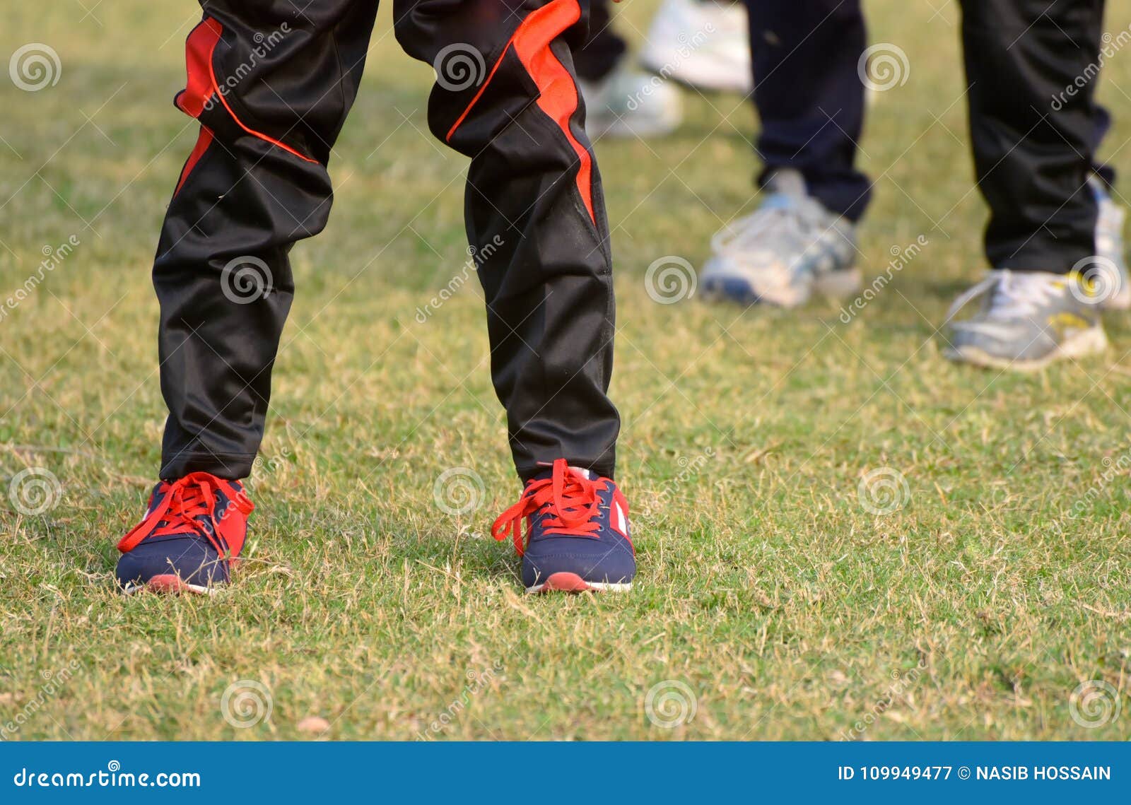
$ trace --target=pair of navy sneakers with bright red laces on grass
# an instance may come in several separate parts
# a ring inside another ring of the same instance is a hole
[[[121,542],[126,594],[211,594],[231,580],[254,505],[239,481],[191,473],[162,481],[145,518]],[[627,591],[636,575],[629,504],[612,478],[553,462],[492,527],[523,557],[527,592]]]

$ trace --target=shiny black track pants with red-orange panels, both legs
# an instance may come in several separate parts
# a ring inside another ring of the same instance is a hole
[[[294,294],[287,253],[326,226],[326,165],[377,14],[375,0],[201,6],[176,97],[200,139],[154,265],[163,478],[251,470]],[[396,0],[394,15],[402,46],[437,70],[432,132],[472,157],[467,235],[519,475],[556,458],[612,475],[608,228],[569,50],[584,40],[585,9]]]

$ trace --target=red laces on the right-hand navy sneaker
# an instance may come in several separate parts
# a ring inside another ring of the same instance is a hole
[[[597,516],[601,513],[601,499],[597,492],[603,488],[604,481],[590,481],[579,470],[573,469],[566,459],[554,461],[553,474],[549,478],[530,481],[523,490],[518,503],[499,516],[491,526],[491,536],[503,540],[510,535],[515,549],[521,556],[525,552],[523,539],[523,521],[545,508],[550,518],[545,521],[546,534],[567,534],[585,537],[599,530]]]

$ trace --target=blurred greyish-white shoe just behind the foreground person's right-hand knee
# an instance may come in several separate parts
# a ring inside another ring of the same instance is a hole
[[[599,81],[578,84],[585,97],[585,129],[593,140],[606,135],[657,137],[683,119],[680,93],[656,76],[622,66]]]

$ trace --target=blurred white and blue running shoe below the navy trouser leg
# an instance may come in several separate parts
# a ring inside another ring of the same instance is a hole
[[[776,172],[766,200],[711,240],[700,285],[707,300],[796,308],[813,293],[848,296],[861,285],[856,227],[805,191],[796,171]]]

